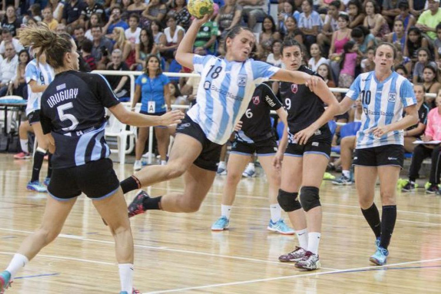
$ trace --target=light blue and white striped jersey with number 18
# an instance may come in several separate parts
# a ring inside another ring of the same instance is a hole
[[[228,61],[212,55],[194,55],[194,70],[201,75],[196,105],[187,114],[207,139],[225,144],[247,110],[256,84],[271,78],[279,67],[248,59]]]

